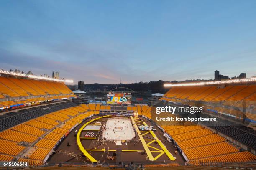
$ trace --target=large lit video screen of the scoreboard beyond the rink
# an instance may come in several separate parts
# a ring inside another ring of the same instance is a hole
[[[131,93],[108,92],[107,104],[131,104]]]

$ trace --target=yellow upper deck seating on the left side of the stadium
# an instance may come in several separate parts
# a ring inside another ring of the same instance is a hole
[[[76,96],[61,82],[0,76],[0,110],[71,97]]]

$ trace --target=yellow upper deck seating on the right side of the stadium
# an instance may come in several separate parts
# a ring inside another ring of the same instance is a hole
[[[161,100],[197,106],[212,112],[225,114],[249,122],[256,121],[256,114],[246,112],[242,107],[253,106],[256,109],[256,85],[226,86],[175,86]]]

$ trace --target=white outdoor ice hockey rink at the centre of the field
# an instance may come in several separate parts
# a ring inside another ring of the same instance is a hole
[[[103,137],[107,140],[131,140],[135,137],[135,132],[128,118],[109,118]]]

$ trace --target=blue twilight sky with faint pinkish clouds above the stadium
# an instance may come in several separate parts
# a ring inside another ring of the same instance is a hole
[[[1,0],[0,69],[89,83],[256,76],[256,0]]]

